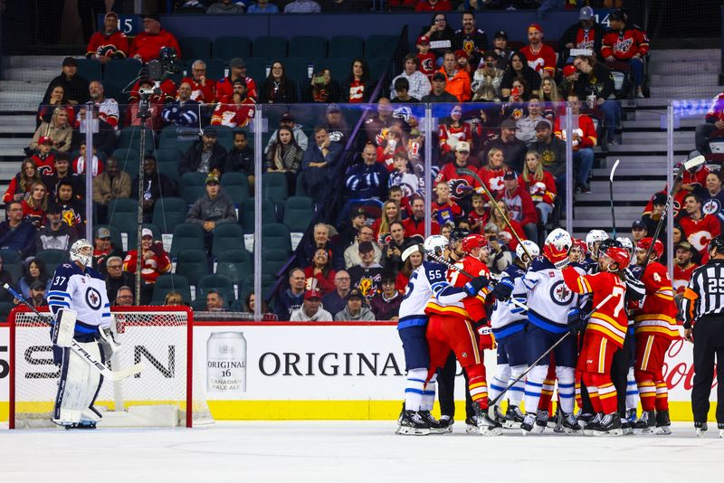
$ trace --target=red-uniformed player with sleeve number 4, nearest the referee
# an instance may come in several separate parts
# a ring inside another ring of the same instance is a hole
[[[651,259],[646,252],[652,246]],[[671,434],[669,391],[663,380],[662,367],[672,340],[679,338],[677,308],[673,301],[672,280],[658,260],[663,254],[661,240],[643,238],[636,245],[636,263],[645,267],[641,277],[646,288],[643,305],[633,312],[636,337],[636,361],[633,374],[641,396],[643,413],[633,426],[636,434]],[[654,410],[655,416],[654,416]]]

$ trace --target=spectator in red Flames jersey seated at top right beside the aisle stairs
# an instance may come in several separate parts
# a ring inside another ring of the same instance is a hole
[[[601,55],[606,62],[626,62],[633,74],[636,97],[643,99],[643,57],[649,54],[649,37],[628,15],[616,9],[608,15],[610,29],[605,33]]]

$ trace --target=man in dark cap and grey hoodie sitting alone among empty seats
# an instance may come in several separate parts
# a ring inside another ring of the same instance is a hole
[[[216,225],[236,222],[233,201],[222,190],[218,176],[207,175],[206,193],[191,205],[186,214],[186,223],[194,223],[204,229],[205,245],[210,250]]]

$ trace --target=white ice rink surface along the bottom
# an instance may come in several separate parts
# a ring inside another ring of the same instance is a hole
[[[5,426],[6,428],[6,426]],[[238,421],[194,430],[0,430],[0,481],[724,481],[716,423],[670,436],[397,436],[395,421]]]

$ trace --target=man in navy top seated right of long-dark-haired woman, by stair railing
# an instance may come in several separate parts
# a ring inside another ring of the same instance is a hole
[[[342,148],[331,143],[327,129],[321,126],[314,128],[314,141],[301,159],[301,179],[314,203],[321,204]]]

